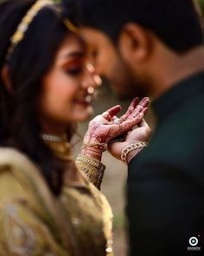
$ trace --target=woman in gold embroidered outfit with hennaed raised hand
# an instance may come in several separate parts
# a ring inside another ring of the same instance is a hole
[[[96,116],[73,161],[69,141],[92,115],[99,77],[72,11],[51,0],[0,3],[0,255],[112,255],[101,156],[120,135],[124,162],[133,141],[146,146],[131,129],[149,99],[135,99],[121,118],[120,106]]]

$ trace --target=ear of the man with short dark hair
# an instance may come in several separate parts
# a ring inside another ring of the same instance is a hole
[[[128,62],[145,61],[151,52],[150,31],[137,23],[126,23],[119,36],[118,47],[121,55]]]

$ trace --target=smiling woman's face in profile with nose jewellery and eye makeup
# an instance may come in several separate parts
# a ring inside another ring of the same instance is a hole
[[[94,69],[75,36],[67,36],[54,65],[42,79],[39,114],[43,122],[67,125],[92,115],[91,94],[97,86]]]

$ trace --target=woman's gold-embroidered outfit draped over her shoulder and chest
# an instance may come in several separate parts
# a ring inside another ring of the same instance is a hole
[[[111,207],[79,172],[86,186],[64,186],[55,197],[32,161],[0,148],[1,256],[112,255]]]

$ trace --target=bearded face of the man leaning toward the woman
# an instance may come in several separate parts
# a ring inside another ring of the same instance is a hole
[[[111,39],[103,32],[91,28],[82,29],[82,35],[96,72],[111,83],[116,95],[121,99],[137,96],[133,75]]]

